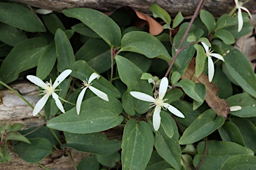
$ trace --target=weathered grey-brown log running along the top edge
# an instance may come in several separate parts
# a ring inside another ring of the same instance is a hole
[[[153,3],[158,4],[163,7],[172,16],[176,15],[179,11],[182,12],[184,16],[193,15],[199,0],[12,0],[20,3],[25,3],[33,7],[39,7],[43,9],[49,9],[51,11],[61,11],[62,9],[69,9],[73,7],[88,7],[92,9],[97,9],[99,11],[115,11],[119,7],[125,5],[132,7],[137,11],[143,13],[151,14],[149,11],[149,6]],[[224,13],[229,13],[234,7],[232,0],[205,0],[202,9],[205,9],[212,13],[215,17],[219,17]],[[256,1],[249,1],[244,5],[252,13],[256,12]]]

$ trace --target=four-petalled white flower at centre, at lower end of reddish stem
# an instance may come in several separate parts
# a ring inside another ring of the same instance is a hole
[[[176,116],[185,118],[185,116],[179,110],[177,110],[177,108],[171,106],[170,104],[165,103],[165,101],[167,99],[163,99],[163,98],[165,97],[167,87],[168,87],[168,79],[166,77],[164,77],[161,80],[161,83],[159,86],[159,96],[158,97],[157,97],[157,95],[155,95],[155,98],[153,98],[152,96],[149,96],[148,94],[144,94],[141,92],[130,92],[131,96],[133,96],[134,98],[137,98],[139,100],[143,100],[146,102],[152,102],[151,107],[155,106],[155,111],[153,113],[153,127],[154,127],[155,131],[157,131],[160,127],[161,108],[163,108],[163,109],[167,108],[169,110],[169,112],[175,114]]]

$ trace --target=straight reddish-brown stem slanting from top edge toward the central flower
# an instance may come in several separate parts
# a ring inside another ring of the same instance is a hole
[[[165,73],[165,77],[168,76],[168,74],[171,71],[171,68],[173,67],[173,64],[174,64],[174,62],[175,62],[179,52],[181,52],[181,46],[182,46],[183,42],[185,41],[185,38],[187,37],[187,33],[189,33],[189,29],[191,28],[191,26],[192,26],[192,24],[193,24],[193,22],[195,20],[195,17],[197,17],[197,13],[199,12],[199,9],[200,9],[202,3],[203,3],[203,0],[200,0],[199,4],[197,5],[197,9],[195,10],[195,13],[194,13],[194,15],[193,15],[193,17],[192,17],[192,19],[191,19],[191,21],[189,23],[189,27],[187,27],[187,30],[186,30],[185,34],[183,35],[183,37],[181,39],[181,43],[179,44],[179,47],[176,50],[175,56],[173,56],[173,60],[171,61],[171,64],[170,64],[167,72]]]

